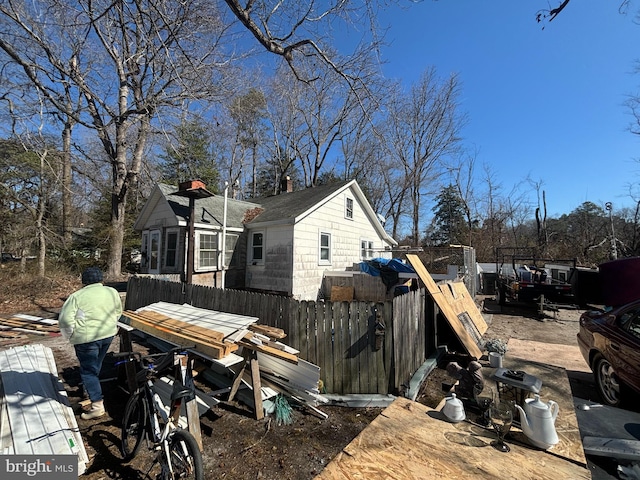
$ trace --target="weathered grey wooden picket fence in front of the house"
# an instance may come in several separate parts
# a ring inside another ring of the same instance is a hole
[[[277,295],[132,277],[125,309],[155,302],[258,317],[320,367],[328,393],[398,393],[425,361],[425,290],[380,302],[299,301]]]

